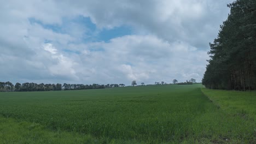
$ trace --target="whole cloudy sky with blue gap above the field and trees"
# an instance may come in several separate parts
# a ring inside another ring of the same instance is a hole
[[[231,2],[0,0],[0,81],[201,82]]]

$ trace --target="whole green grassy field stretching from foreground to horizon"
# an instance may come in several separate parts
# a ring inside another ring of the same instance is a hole
[[[255,104],[202,85],[3,92],[0,143],[256,143]]]

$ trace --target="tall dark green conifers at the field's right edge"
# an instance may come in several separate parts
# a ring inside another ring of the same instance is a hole
[[[212,89],[256,88],[256,1],[228,4],[230,14],[210,43],[210,60],[202,83]]]

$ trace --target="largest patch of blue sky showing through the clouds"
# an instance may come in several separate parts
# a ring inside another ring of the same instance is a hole
[[[69,34],[71,27],[74,26],[72,23],[75,23],[79,26],[84,27],[84,34],[81,43],[89,43],[89,42],[97,42],[97,41],[104,41],[109,42],[110,39],[123,37],[125,35],[131,35],[133,34],[132,27],[130,26],[119,26],[114,27],[112,29],[97,29],[97,26],[92,23],[90,17],[84,17],[82,15],[79,15],[77,17],[74,17],[73,19],[63,17],[62,24],[45,24],[42,21],[39,21],[33,17],[28,19],[31,24],[38,24],[42,26],[45,29],[50,29],[51,31],[55,33],[61,33],[61,34]]]

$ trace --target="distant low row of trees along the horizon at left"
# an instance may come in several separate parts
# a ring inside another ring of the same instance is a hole
[[[111,88],[111,87],[124,87],[123,83],[121,84],[107,84],[107,85],[83,85],[83,84],[68,84],[61,83],[55,84],[44,84],[44,83],[19,83],[15,85],[11,82],[0,82],[0,92],[36,92],[36,91],[62,91],[62,90],[82,90],[82,89],[100,89],[100,88]]]

